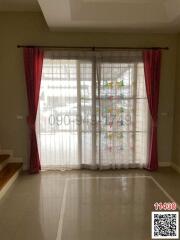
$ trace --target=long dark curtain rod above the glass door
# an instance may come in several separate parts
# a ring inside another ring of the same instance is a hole
[[[78,47],[78,46],[36,46],[36,45],[17,45],[17,48],[44,48],[44,49],[71,49],[71,50],[91,50],[91,51],[96,51],[96,50],[146,50],[146,49],[162,49],[162,50],[169,50],[169,47]]]

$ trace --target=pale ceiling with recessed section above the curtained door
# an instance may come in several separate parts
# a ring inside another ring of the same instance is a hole
[[[57,31],[180,32],[180,0],[0,0],[0,11],[42,11]]]

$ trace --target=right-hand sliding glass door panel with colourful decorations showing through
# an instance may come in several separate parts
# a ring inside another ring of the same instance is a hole
[[[97,111],[103,166],[138,167],[146,162],[148,105],[142,63],[100,64]]]

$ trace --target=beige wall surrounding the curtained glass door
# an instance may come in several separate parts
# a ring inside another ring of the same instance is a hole
[[[159,106],[159,159],[172,158],[176,35],[50,32],[39,13],[0,14],[0,145],[27,162],[28,131],[22,49],[18,44],[78,46],[168,46],[163,52]],[[180,84],[179,84],[180,88]],[[168,113],[163,116],[161,113]],[[179,111],[180,113],[180,111]],[[23,115],[17,120],[16,115]],[[180,128],[179,128],[180,129]],[[179,134],[180,135],[180,134]],[[180,153],[179,153],[180,155]]]

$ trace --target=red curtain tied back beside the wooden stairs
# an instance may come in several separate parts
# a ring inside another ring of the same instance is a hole
[[[24,68],[27,88],[29,115],[27,123],[30,128],[30,173],[39,173],[41,164],[36,139],[36,115],[41,84],[43,51],[39,48],[24,48]]]

